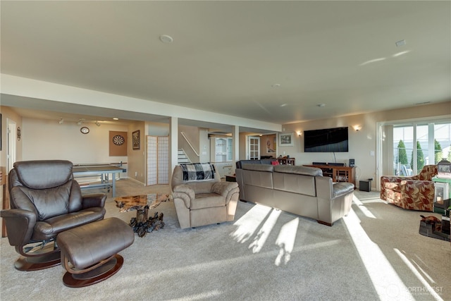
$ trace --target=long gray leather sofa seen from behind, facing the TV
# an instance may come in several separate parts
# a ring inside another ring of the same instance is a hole
[[[351,209],[354,184],[333,183],[319,168],[242,164],[235,172],[242,201],[306,216],[328,226]]]

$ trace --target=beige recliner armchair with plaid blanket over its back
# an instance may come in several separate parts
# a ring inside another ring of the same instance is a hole
[[[221,182],[212,164],[175,166],[171,187],[180,228],[233,221],[239,188]]]

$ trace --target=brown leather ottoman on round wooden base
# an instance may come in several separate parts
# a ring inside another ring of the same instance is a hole
[[[58,234],[61,264],[67,271],[64,285],[80,288],[113,276],[123,264],[123,257],[117,253],[134,241],[132,228],[116,217]]]

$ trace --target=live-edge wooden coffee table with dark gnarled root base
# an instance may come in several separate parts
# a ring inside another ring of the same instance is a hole
[[[164,227],[163,214],[155,213],[154,217],[148,218],[149,209],[154,209],[161,202],[170,201],[171,195],[161,193],[149,193],[148,195],[128,195],[126,197],[116,197],[116,207],[119,212],[128,212],[136,210],[136,218],[130,220],[130,226],[140,237],[154,230]]]

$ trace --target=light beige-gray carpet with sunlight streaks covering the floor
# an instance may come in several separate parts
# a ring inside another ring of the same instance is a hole
[[[116,195],[169,192],[119,180]],[[349,216],[332,227],[239,202],[235,221],[180,229],[173,203],[165,228],[120,254],[118,274],[67,288],[61,266],[21,272],[1,238],[1,300],[451,300],[450,242],[419,235],[419,212],[355,192]],[[119,214],[113,198],[109,216]],[[435,214],[438,216],[437,214]]]

